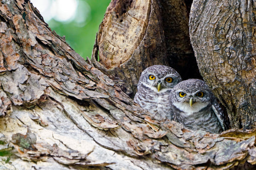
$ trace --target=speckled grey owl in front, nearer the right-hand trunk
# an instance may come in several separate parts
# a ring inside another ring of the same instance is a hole
[[[174,121],[190,130],[220,133],[224,130],[223,113],[203,80],[181,81],[170,93]]]

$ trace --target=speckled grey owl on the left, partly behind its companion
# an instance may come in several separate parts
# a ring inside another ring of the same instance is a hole
[[[169,94],[180,81],[180,74],[172,67],[150,66],[140,75],[134,102],[151,113],[155,120],[172,120]]]

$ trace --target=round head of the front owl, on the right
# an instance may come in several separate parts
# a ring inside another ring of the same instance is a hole
[[[203,80],[188,79],[174,86],[172,104],[185,113],[196,113],[210,106],[215,97]]]

